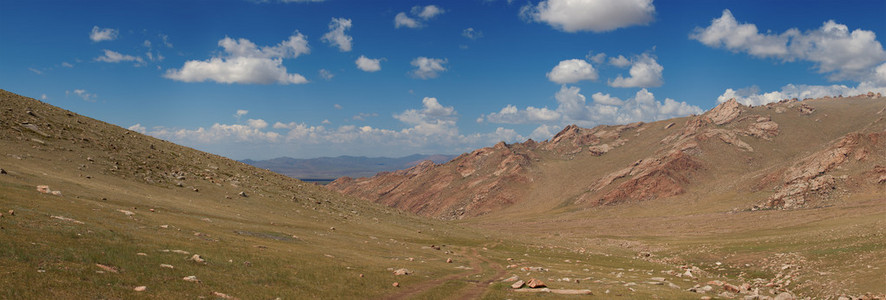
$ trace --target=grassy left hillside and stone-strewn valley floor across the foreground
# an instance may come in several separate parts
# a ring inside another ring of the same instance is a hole
[[[444,222],[5,91],[0,153],[0,298],[884,293],[880,190],[791,211],[733,211],[737,200],[727,195],[540,202]],[[401,268],[410,275],[395,275]],[[509,278],[550,289],[513,290]]]

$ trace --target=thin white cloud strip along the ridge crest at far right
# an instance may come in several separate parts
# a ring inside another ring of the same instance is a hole
[[[805,85],[805,84],[788,84],[781,87],[778,91],[761,92],[756,86],[743,88],[739,90],[726,89],[722,95],[717,97],[717,102],[726,102],[735,98],[739,103],[744,105],[764,105],[767,103],[778,102],[784,99],[806,99],[821,98],[824,96],[836,97],[855,96],[867,94],[868,92],[886,94],[886,84],[875,84],[872,82],[862,82],[858,86],[850,87],[846,85]]]

